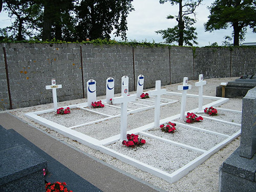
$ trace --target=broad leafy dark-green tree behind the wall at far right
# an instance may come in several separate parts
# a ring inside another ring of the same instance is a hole
[[[256,32],[256,0],[217,0],[209,9],[205,31],[233,27],[233,46],[239,46],[239,39],[244,38],[247,27]]]

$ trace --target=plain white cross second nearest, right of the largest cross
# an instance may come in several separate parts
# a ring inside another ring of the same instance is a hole
[[[148,95],[156,96],[155,97],[155,127],[159,127],[160,125],[160,100],[161,95],[166,94],[166,89],[161,89],[161,81],[156,81],[156,89],[153,91],[149,91]]]

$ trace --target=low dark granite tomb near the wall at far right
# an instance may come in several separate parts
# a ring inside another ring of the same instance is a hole
[[[254,75],[242,77],[240,79],[229,81],[227,83],[227,86],[225,87],[226,98],[244,97],[250,89],[256,87],[256,78],[254,77]],[[216,88],[216,96],[222,96],[221,86],[218,86]]]

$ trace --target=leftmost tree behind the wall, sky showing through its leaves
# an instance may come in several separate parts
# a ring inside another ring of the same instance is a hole
[[[9,17],[14,16],[15,20],[12,26],[3,31],[11,33],[16,40],[24,40],[26,36],[33,36],[34,30],[37,30],[36,21],[40,14],[40,5],[32,0],[5,0],[4,3],[4,9],[8,11]]]

